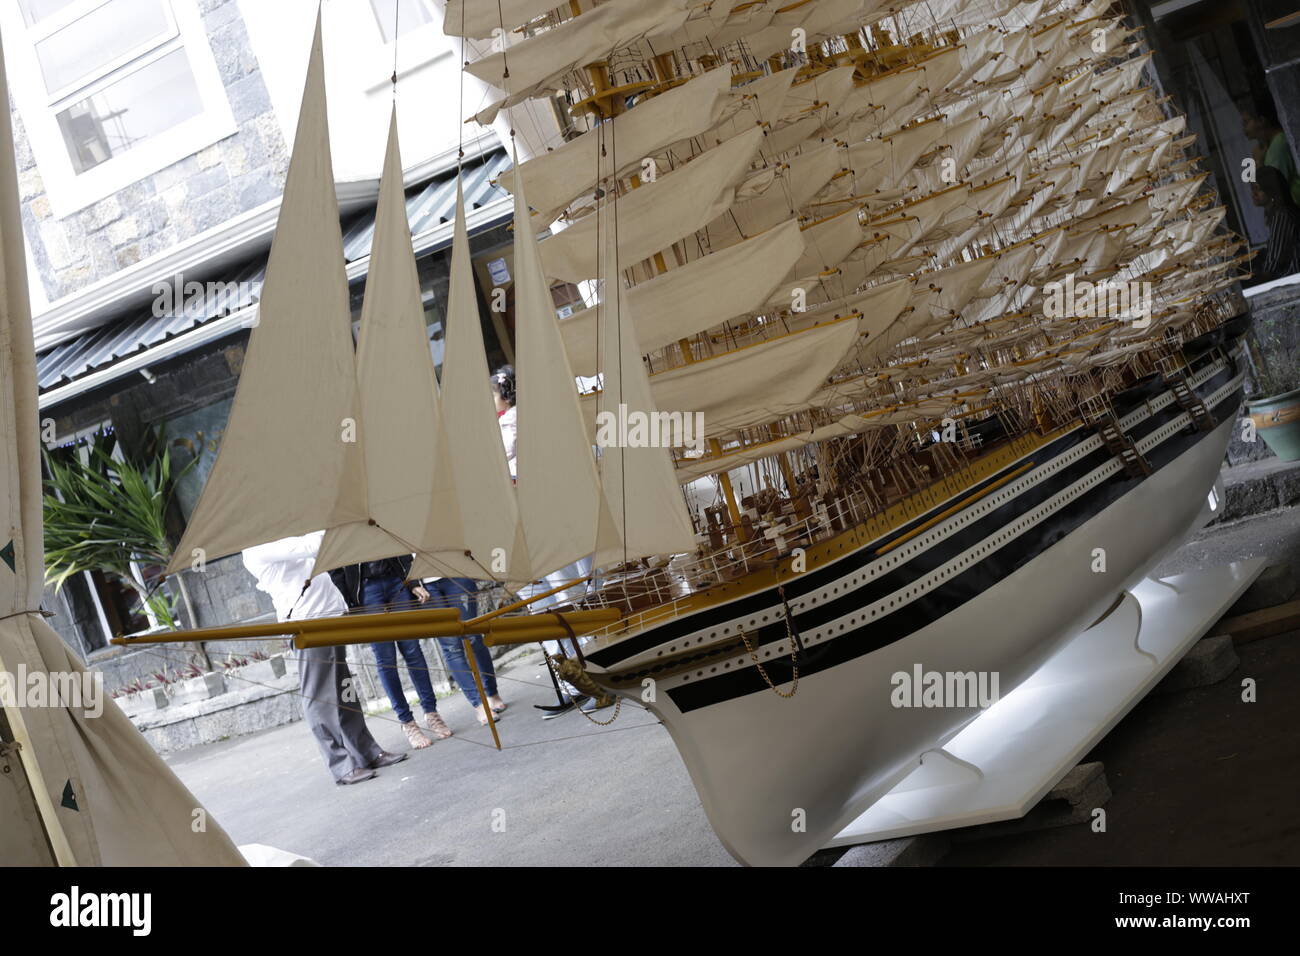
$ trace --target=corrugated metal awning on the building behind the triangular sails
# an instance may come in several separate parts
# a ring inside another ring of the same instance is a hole
[[[503,170],[511,165],[504,151],[498,150],[489,153],[482,160],[467,164],[463,170],[465,191],[465,212],[481,209],[491,203],[510,199],[506,190],[493,185]],[[438,226],[451,222],[456,215],[456,174],[455,172],[439,176],[426,185],[415,189],[407,196],[407,219],[411,221],[412,235],[422,235]],[[506,213],[508,215],[508,213]],[[498,220],[499,221],[499,220]],[[495,221],[480,222],[478,229],[495,225]],[[374,237],[374,209],[369,209],[351,224],[343,228],[343,256],[348,264],[368,259],[370,254],[370,241]],[[419,252],[429,252],[442,248],[446,242],[417,248]],[[156,316],[152,311],[143,315],[126,317],[109,325],[87,332],[77,338],[62,342],[47,352],[36,356],[36,381],[42,393],[51,389],[60,389],[58,401],[72,398],[77,390],[68,386],[77,382],[92,372],[108,372],[112,365],[122,363],[130,358],[139,358],[143,352],[160,349],[177,337],[194,333],[202,326],[209,325],[233,313],[240,312],[256,304],[261,293],[263,277],[266,272],[265,256],[247,263],[233,274],[213,278],[204,284],[205,291],[202,298],[183,297],[186,303],[194,298],[192,304],[177,311]],[[355,280],[358,274],[364,276],[364,267],[358,271],[348,269],[348,277]],[[233,284],[233,285],[226,285]],[[238,289],[239,295],[231,297],[225,289]],[[183,290],[179,290],[183,291]],[[237,330],[229,329],[225,334]],[[205,336],[190,336],[192,345],[188,347],[168,349],[166,358],[183,354],[188,349],[198,349],[212,341]],[[181,342],[177,342],[179,346]],[[131,363],[131,368],[139,363]],[[124,368],[126,375],[130,368]],[[116,376],[112,376],[116,377]],[[94,386],[105,384],[104,375],[96,375]]]

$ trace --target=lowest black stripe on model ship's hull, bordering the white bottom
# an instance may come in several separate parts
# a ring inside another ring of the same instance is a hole
[[[1212,412],[1222,421],[1222,416],[1235,415],[1240,402],[1242,392],[1238,389],[1232,395],[1216,405]],[[1178,408],[1176,405],[1173,407],[1179,415],[1183,414],[1182,408]],[[1147,460],[1150,463],[1153,473],[1169,466],[1208,434],[1208,432],[1197,432],[1188,427],[1188,429],[1179,432],[1156,449],[1152,449],[1147,455]],[[954,575],[915,601],[902,605],[897,610],[884,614],[857,630],[836,635],[824,644],[810,649],[811,659],[800,662],[800,675],[818,674],[863,654],[879,650],[939,620],[1039,557],[1048,548],[1083,525],[1088,519],[1122,498],[1138,484],[1139,480],[1114,479],[1098,483],[1093,490],[1084,493],[1060,511],[1049,515],[1031,531],[1015,538],[1015,541],[989,553],[978,564]],[[864,606],[868,602],[859,600],[854,604]],[[802,620],[803,615],[796,618],[797,624],[802,624]],[[783,633],[776,639],[784,639],[784,626]],[[786,672],[789,663],[789,658],[783,657],[764,662],[764,667],[772,675],[774,680],[784,682],[789,680]],[[714,678],[672,688],[668,691],[668,696],[681,713],[689,713],[712,704],[764,691],[768,691],[768,688],[758,669],[751,665],[744,665]]]

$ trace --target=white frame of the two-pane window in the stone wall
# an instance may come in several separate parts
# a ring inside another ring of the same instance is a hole
[[[0,35],[5,39],[5,59],[10,64],[9,88],[27,129],[36,166],[56,219],[107,199],[118,190],[239,131],[207,31],[203,29],[198,0],[161,0],[174,27],[170,33],[160,34],[105,64],[74,87],[57,90],[55,95],[47,92],[44,73],[36,57],[36,42],[108,1],[79,0],[29,27],[16,0],[0,0]],[[58,129],[57,113],[178,49],[185,51],[190,62],[203,111],[78,174],[68,153],[62,131]]]

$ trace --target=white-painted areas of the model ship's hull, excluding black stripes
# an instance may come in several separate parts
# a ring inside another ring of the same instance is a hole
[[[807,858],[888,792],[922,753],[941,745],[979,714],[971,706],[894,706],[890,700],[894,674],[911,675],[918,665],[924,671],[996,674],[997,688],[1005,696],[1061,644],[1104,615],[1121,592],[1136,584],[1183,540],[1214,486],[1240,395],[1240,376],[1228,362],[1202,371],[1193,385],[1197,381],[1205,384],[1200,394],[1219,421],[1212,432],[1193,432],[1190,418],[1170,402],[1164,402],[1162,418],[1150,415],[1149,407],[1124,416],[1126,423],[1147,420],[1149,432],[1138,438],[1139,449],[1152,455],[1153,463],[1161,455],[1169,460],[1158,463],[1150,476],[1134,483],[1018,570],[954,610],[939,611],[932,623],[906,636],[894,635],[884,646],[833,666],[801,667],[793,697],[750,683],[742,692],[724,689],[718,692],[715,702],[702,702],[701,680],[707,683],[714,671],[754,670],[744,653],[727,662],[710,661],[699,671],[658,680],[655,700],[647,706],[663,719],[710,822],[737,860],[794,865]],[[1041,529],[1071,503],[1082,505],[1109,481],[1122,483],[1123,476],[1117,477],[1118,460],[1104,450],[1084,455],[1089,447],[1076,446],[1061,458],[1072,455],[1076,467],[1080,457],[1102,459],[1100,467],[1026,510],[956,561],[978,564],[985,554],[1014,548],[1020,536]],[[1023,480],[1032,484],[1040,470]],[[967,511],[978,507],[975,502]],[[970,524],[974,519],[967,511],[942,522],[932,535],[941,540],[945,528],[950,533],[963,523]],[[1093,571],[1102,553],[1105,571]],[[942,581],[950,580],[956,570],[945,563],[924,578],[913,579],[905,591],[892,592],[878,602],[883,617],[890,598],[898,604],[910,598],[915,604],[941,593]],[[805,630],[801,617],[816,601],[790,598],[790,606],[812,661],[820,644],[833,644],[844,619]],[[867,607],[859,605],[854,620],[866,613]],[[759,656],[772,680],[789,693],[793,687],[789,645],[774,643],[759,650]],[[649,657],[649,652],[642,652],[627,662]],[[598,674],[598,669],[593,667],[593,672]],[[696,684],[689,689],[697,696],[682,697],[682,688],[692,679]],[[625,691],[634,700],[641,700],[640,692],[640,685]]]

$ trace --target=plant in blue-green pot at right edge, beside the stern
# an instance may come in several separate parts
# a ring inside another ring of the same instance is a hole
[[[1245,408],[1283,462],[1300,460],[1300,330],[1294,321],[1257,323],[1247,334],[1254,389]]]

